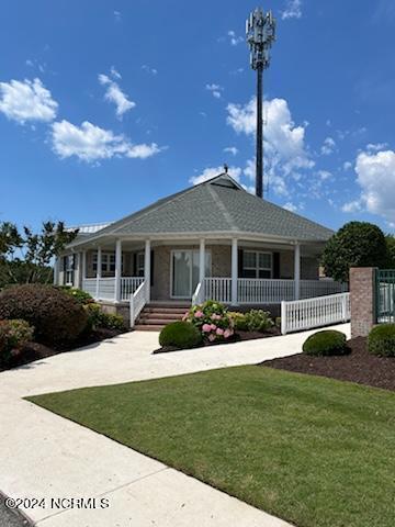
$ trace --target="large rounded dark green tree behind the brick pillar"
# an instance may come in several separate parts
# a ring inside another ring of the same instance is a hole
[[[368,222],[350,222],[327,242],[321,265],[327,277],[349,281],[350,267],[385,267],[387,245],[380,227]]]

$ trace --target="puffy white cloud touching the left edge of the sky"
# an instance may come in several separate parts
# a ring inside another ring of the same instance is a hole
[[[57,109],[50,91],[37,78],[0,82],[0,112],[12,121],[49,122],[56,117]]]

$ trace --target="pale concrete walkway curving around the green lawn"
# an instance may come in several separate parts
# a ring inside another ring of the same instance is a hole
[[[349,325],[336,328],[349,335]],[[21,397],[257,363],[300,352],[309,333],[151,355],[158,334],[134,332],[0,373],[0,491],[45,498],[43,507],[23,508],[43,527],[285,527]],[[59,497],[95,497],[98,508],[67,508],[70,502],[64,502],[57,509],[50,498]]]

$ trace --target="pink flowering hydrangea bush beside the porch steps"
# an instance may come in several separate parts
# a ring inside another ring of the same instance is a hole
[[[227,309],[213,300],[192,306],[183,319],[193,324],[210,343],[227,340],[235,334]]]

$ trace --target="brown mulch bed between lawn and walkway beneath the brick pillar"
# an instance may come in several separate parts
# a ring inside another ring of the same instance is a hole
[[[366,338],[363,337],[353,338],[348,345],[351,352],[342,357],[311,357],[301,354],[267,360],[259,366],[395,391],[395,358],[370,355]]]

